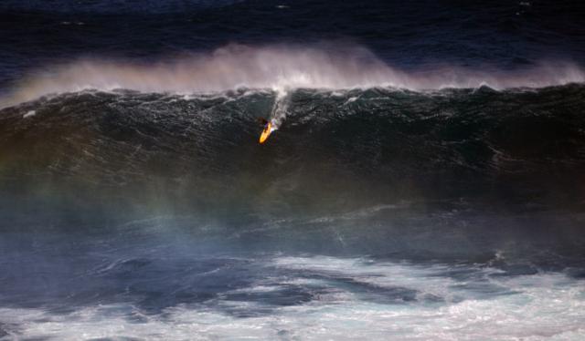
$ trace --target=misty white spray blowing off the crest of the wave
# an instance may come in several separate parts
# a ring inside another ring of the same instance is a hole
[[[207,54],[157,64],[84,59],[31,73],[0,101],[5,107],[43,95],[94,88],[144,92],[207,93],[234,88],[394,87],[540,88],[585,81],[585,72],[567,62],[543,62],[530,69],[504,72],[491,67],[437,66],[420,72],[391,67],[363,47],[247,47],[229,45]]]

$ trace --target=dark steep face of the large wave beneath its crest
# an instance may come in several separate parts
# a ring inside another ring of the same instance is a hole
[[[0,174],[120,191],[165,183],[186,202],[252,210],[453,198],[574,205],[583,200],[584,94],[581,85],[83,91],[3,110]],[[265,146],[260,117],[280,125]]]

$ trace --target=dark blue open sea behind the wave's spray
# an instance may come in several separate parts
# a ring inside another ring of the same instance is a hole
[[[386,62],[527,67],[585,57],[575,1],[4,1],[3,81],[75,57],[157,60],[229,43],[350,41]]]

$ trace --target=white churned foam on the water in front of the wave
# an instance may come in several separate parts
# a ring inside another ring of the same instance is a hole
[[[377,285],[461,294],[461,282],[441,276],[446,265],[371,263],[334,257],[282,257],[268,266]],[[489,274],[492,270],[477,270]],[[292,273],[291,273],[292,274]],[[327,281],[285,276],[286,285],[324,285]],[[343,287],[304,305],[283,306],[266,315],[238,317],[229,310],[177,305],[164,314],[146,315],[133,305],[96,305],[67,314],[35,308],[0,308],[3,328],[22,338],[60,340],[137,337],[147,339],[303,339],[303,340],[582,340],[585,337],[585,288],[562,274],[492,276],[505,294],[464,294],[453,302],[384,305],[359,299]],[[283,277],[284,278],[284,277]],[[272,279],[273,280],[273,279]],[[463,283],[464,284],[464,283]],[[271,284],[274,285],[274,284]],[[278,287],[258,284],[251,292]],[[334,297],[335,296],[335,297]],[[225,301],[221,306],[254,309],[254,302]],[[139,319],[129,318],[139,316]]]

